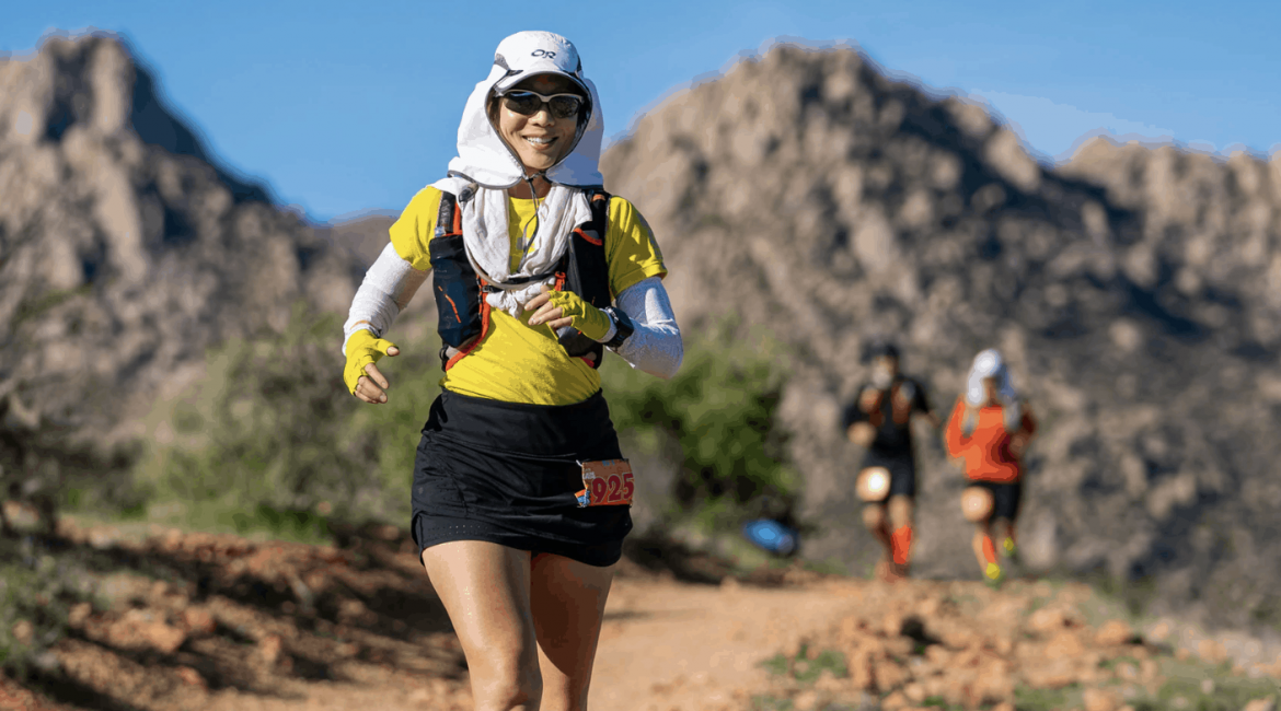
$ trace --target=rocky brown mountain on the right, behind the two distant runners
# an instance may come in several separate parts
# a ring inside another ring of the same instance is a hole
[[[687,334],[734,313],[790,347],[803,555],[853,569],[861,451],[840,407],[897,340],[939,413],[998,347],[1030,398],[1032,569],[1159,582],[1157,606],[1281,619],[1281,162],[1095,139],[1048,170],[979,106],[853,51],[779,46],[610,148]],[[918,431],[916,572],[974,577],[959,473]]]

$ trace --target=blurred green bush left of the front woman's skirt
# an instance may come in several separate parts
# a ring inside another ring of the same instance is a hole
[[[315,533],[316,514],[407,515],[407,458],[421,423],[416,398],[396,395],[436,384],[414,382],[432,377],[409,349],[411,377],[396,376],[386,405],[360,407],[341,379],[341,332],[337,316],[298,307],[284,334],[210,352],[204,380],[150,418],[136,486],[152,514],[192,520],[202,510],[213,519],[205,524],[302,538]]]

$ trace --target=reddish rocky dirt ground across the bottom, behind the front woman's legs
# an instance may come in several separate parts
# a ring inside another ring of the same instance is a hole
[[[470,708],[401,531],[339,547],[64,520],[58,542],[88,556],[95,601],[72,609],[56,671],[0,680],[0,708]],[[660,566],[652,546],[620,564],[594,708],[1262,711],[1281,684],[1275,650],[1189,650],[1082,584],[735,572],[680,550]]]

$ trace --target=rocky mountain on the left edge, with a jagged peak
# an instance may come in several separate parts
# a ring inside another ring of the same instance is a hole
[[[199,373],[206,347],[282,329],[300,298],[345,311],[356,279],[350,256],[265,188],[211,164],[122,41],[55,37],[0,59],[10,474],[55,467],[41,448],[82,448],[97,467],[137,434],[131,413]]]

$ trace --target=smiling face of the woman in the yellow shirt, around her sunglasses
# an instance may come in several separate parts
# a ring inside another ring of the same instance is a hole
[[[530,77],[516,84],[512,91],[526,90],[543,96],[553,93],[578,93],[579,88],[569,78],[560,74],[539,74]],[[557,119],[552,115],[546,104],[529,116],[523,116],[510,109],[502,98],[493,102],[491,119],[498,136],[511,146],[525,166],[526,173],[547,170],[560,162],[574,142],[574,133],[578,129],[578,119],[582,115],[567,119]]]

